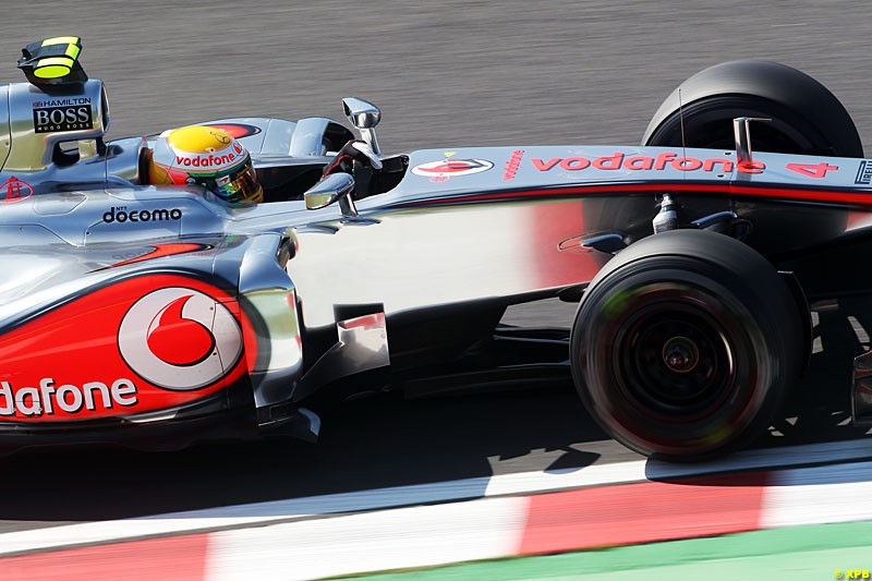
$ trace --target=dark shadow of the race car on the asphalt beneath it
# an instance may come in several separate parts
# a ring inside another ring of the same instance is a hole
[[[808,373],[754,447],[863,437],[846,424],[851,360],[872,329],[863,303],[819,315]],[[641,459],[603,434],[571,387],[412,401],[386,394],[336,404],[323,421],[316,445],[20,452],[3,460],[0,532]]]

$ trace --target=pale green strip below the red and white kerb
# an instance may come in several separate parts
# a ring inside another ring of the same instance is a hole
[[[521,557],[366,577],[385,581],[857,579],[872,569],[872,522],[820,524]],[[839,574],[841,577],[839,577]],[[865,577],[869,580],[869,577]]]

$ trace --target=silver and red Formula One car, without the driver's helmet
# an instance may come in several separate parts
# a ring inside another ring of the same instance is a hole
[[[0,86],[0,445],[314,439],[311,402],[574,382],[615,438],[697,460],[765,431],[811,352],[809,301],[872,289],[872,160],[836,98],[780,64],[687,81],[642,146],[383,156],[328,119],[220,125],[262,204],[148,185],[154,140],[105,141],[75,37]],[[753,146],[751,149],[751,124]],[[766,153],[760,153],[766,152]],[[500,325],[580,302],[571,330]],[[872,356],[855,422],[872,421]]]

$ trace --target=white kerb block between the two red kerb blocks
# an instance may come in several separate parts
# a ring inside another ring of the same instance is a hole
[[[518,553],[526,498],[400,508],[209,535],[206,579],[315,579]]]

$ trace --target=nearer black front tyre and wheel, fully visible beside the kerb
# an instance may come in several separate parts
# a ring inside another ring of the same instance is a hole
[[[678,230],[622,251],[591,282],[572,376],[608,434],[645,456],[697,461],[770,425],[800,373],[799,311],[760,254]]]

